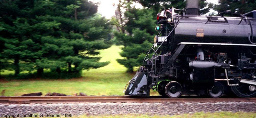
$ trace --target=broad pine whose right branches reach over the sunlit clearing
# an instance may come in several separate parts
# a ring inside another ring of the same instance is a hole
[[[107,65],[108,62],[98,62],[100,58],[91,57],[91,55],[99,54],[97,50],[110,46],[104,42],[110,33],[107,20],[99,15],[94,15],[97,12],[97,5],[88,0],[52,2],[52,5],[59,6],[55,11],[61,13],[49,14],[46,12],[45,14],[49,15],[39,18],[42,21],[59,23],[56,27],[58,30],[51,34],[53,37],[42,38],[44,41],[43,59],[37,60],[38,67],[57,68],[57,71],[60,71],[60,68],[68,68],[68,72],[77,72],[81,69]],[[54,42],[52,42],[53,39]],[[75,67],[72,68],[71,65]]]

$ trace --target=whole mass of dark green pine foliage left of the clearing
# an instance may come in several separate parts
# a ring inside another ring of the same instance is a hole
[[[88,0],[1,1],[1,69],[41,75],[106,66],[95,55],[110,47],[111,26],[97,7]]]

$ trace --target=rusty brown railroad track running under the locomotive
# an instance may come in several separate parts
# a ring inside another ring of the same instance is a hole
[[[0,103],[256,102],[256,98],[161,98],[130,96],[0,97]]]

